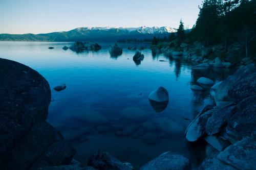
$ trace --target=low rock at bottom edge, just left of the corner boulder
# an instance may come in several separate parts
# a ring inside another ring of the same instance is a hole
[[[206,158],[202,162],[202,164],[198,168],[199,170],[217,170],[217,169],[225,169],[225,170],[237,170],[230,165],[227,165],[217,158]]]

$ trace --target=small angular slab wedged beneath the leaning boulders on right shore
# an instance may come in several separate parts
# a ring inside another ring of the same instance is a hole
[[[231,144],[229,141],[224,140],[219,136],[206,136],[204,140],[220,152]]]

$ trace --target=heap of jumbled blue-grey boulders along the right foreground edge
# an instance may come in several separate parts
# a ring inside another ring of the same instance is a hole
[[[255,89],[255,65],[238,69],[217,87],[217,106],[206,106],[187,127],[188,141],[205,140],[215,153],[199,169],[255,169]]]

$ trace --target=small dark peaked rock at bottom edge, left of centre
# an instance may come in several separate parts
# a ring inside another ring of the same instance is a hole
[[[131,170],[108,152],[97,151],[88,161],[88,165],[104,170]]]

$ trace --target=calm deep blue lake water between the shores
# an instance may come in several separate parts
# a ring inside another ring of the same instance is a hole
[[[0,57],[28,65],[48,80],[52,102],[47,121],[73,144],[75,159],[86,164],[101,149],[138,169],[166,151],[194,157],[185,129],[214,100],[210,90],[194,92],[190,85],[200,77],[221,81],[230,71],[196,70],[180,59],[153,56],[149,49],[141,51],[145,58],[136,65],[136,51],[127,48],[112,58],[110,44],[79,54],[62,50],[64,45],[71,43],[0,42]],[[65,90],[53,90],[63,83]],[[170,98],[162,112],[156,112],[147,98],[159,86]]]

